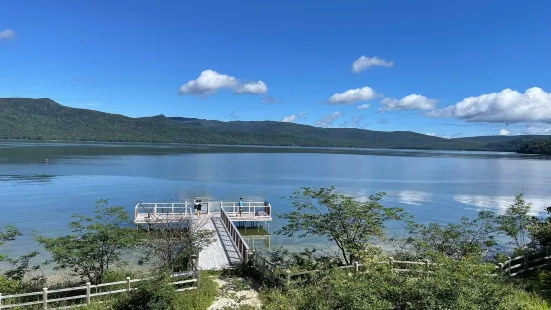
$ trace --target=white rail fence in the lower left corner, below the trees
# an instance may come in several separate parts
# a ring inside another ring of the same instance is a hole
[[[199,270],[183,272],[177,275],[172,275],[171,277],[172,279],[174,279],[173,281],[171,281],[172,285],[182,285],[182,284],[190,284],[190,283],[195,284],[195,286],[177,289],[176,291],[178,292],[196,289],[197,282],[199,281]],[[188,280],[178,280],[178,278],[181,278],[181,277],[193,277],[193,278]],[[87,282],[85,285],[63,288],[63,289],[56,289],[56,290],[48,290],[48,288],[45,287],[40,292],[12,294],[12,295],[2,295],[0,293],[0,309],[11,309],[11,308],[18,308],[18,307],[25,307],[25,306],[32,306],[32,305],[42,305],[41,307],[42,309],[52,309],[52,310],[76,308],[84,305],[89,305],[93,297],[130,292],[132,290],[137,289],[136,287],[132,287],[132,283],[142,282],[142,281],[151,280],[151,279],[152,279],[151,277],[143,278],[143,279],[130,279],[130,277],[127,277],[125,281],[102,283],[97,285],[92,285],[90,284],[90,282]],[[118,287],[116,287],[115,289],[112,289],[113,286],[118,286]],[[105,290],[105,288],[108,288],[108,289]],[[78,295],[61,297],[59,296],[60,293],[64,293],[64,295],[71,295],[71,293],[78,294]],[[52,298],[52,295],[54,295],[53,298]],[[55,295],[58,295],[58,296],[55,297]],[[25,298],[25,297],[26,298],[35,297],[31,299],[39,299],[39,300],[14,302],[14,301],[20,301],[21,298]],[[49,306],[52,303],[61,303],[61,302],[71,302],[74,304],[71,304],[68,306],[57,306],[55,308],[49,308]]]

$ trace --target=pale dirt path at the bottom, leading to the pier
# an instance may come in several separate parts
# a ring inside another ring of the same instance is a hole
[[[220,277],[215,281],[220,287],[220,295],[209,310],[237,309],[241,305],[261,309],[257,283],[241,277]]]

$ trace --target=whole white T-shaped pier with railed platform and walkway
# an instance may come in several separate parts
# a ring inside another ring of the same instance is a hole
[[[202,202],[198,217],[193,202],[138,203],[134,210],[134,223],[155,227],[170,223],[195,223],[202,229],[214,231],[216,241],[199,254],[199,269],[221,270],[246,263],[252,254],[238,226],[263,224],[272,221],[271,206],[264,202],[243,202],[239,212],[238,202]]]

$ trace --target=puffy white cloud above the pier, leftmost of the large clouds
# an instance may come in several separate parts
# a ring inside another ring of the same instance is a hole
[[[179,93],[196,96],[215,94],[219,89],[228,88],[236,94],[265,94],[268,86],[262,81],[243,83],[236,77],[205,70],[199,77],[180,87]]]

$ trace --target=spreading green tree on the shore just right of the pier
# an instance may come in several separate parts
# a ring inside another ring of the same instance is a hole
[[[276,233],[286,236],[324,236],[335,242],[338,256],[346,264],[359,260],[377,239],[385,238],[385,223],[401,220],[407,213],[380,204],[385,193],[367,201],[339,194],[335,187],[295,190],[289,197],[294,211],[279,215],[287,224]]]

